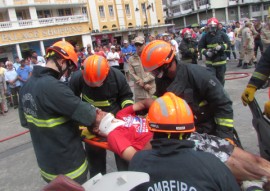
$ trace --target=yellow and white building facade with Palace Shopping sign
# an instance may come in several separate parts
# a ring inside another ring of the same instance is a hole
[[[81,47],[166,31],[161,0],[0,0],[0,61],[45,55],[66,40]]]

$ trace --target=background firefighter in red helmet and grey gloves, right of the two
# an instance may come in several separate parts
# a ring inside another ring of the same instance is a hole
[[[211,69],[224,86],[227,62],[225,50],[230,47],[230,40],[224,32],[218,30],[218,24],[216,18],[208,19],[208,33],[199,41],[199,51],[206,57],[206,66]]]

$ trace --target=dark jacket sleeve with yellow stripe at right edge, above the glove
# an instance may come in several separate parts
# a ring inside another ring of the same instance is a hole
[[[258,65],[256,66],[255,71],[253,72],[250,80],[249,80],[249,84],[252,84],[254,86],[257,87],[257,89],[260,89],[265,81],[268,79],[268,77],[270,76],[270,47],[268,47]]]

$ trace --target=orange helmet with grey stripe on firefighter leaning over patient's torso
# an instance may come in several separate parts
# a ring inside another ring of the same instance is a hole
[[[151,72],[164,64],[172,62],[175,50],[171,44],[163,40],[148,43],[141,54],[141,61],[146,72]]]

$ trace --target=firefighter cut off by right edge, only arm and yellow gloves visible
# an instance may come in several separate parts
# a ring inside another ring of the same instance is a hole
[[[262,57],[253,72],[246,89],[242,94],[242,102],[246,106],[254,100],[255,92],[260,89],[270,76],[270,47],[262,54]],[[270,119],[270,101],[264,105],[264,113]]]

